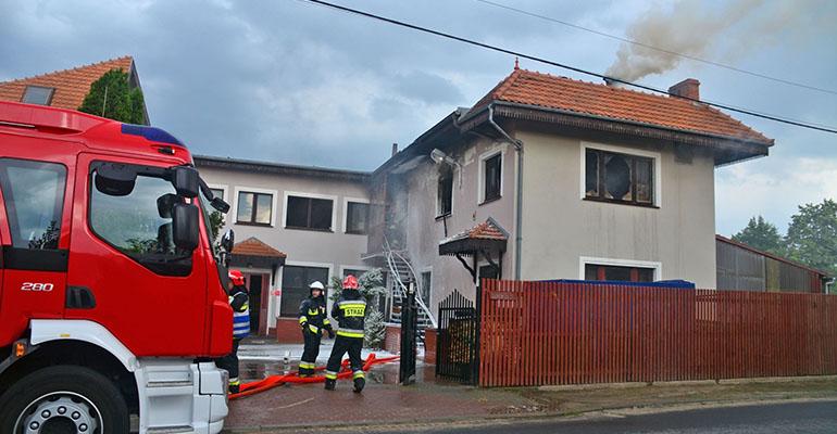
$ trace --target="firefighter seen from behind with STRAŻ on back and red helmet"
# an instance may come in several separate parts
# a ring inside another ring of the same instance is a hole
[[[361,349],[363,348],[363,326],[366,317],[366,301],[358,291],[358,279],[349,275],[342,281],[340,298],[332,306],[332,318],[337,320],[337,339],[328,357],[325,371],[325,390],[334,391],[337,384],[337,373],[340,371],[342,356],[349,353],[352,369],[354,393],[361,393],[366,380],[363,374]]]

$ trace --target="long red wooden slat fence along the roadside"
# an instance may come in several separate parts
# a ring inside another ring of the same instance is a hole
[[[837,374],[837,296],[484,280],[479,384]]]

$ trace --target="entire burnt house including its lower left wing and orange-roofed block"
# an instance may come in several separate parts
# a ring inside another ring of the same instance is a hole
[[[714,169],[765,156],[774,141],[701,103],[699,87],[652,94],[515,67],[373,173],[196,165],[229,197],[239,239],[287,254],[264,275],[283,340],[299,334],[290,318],[313,277],[370,267],[387,271],[388,320],[400,320],[412,281],[427,327],[453,291],[473,299],[479,278],[713,289]]]

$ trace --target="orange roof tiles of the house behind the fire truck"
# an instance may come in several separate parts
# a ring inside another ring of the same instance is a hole
[[[130,73],[133,64],[134,58],[126,55],[124,58],[78,66],[72,69],[57,71],[54,73],[42,74],[35,77],[3,81],[0,82],[0,100],[20,102],[23,100],[23,93],[26,90],[26,86],[43,86],[55,89],[52,94],[52,101],[50,102],[51,106],[78,110],[85,97],[90,91],[90,85],[92,85],[93,81],[101,78],[104,73],[111,69],[122,69],[126,73]]]

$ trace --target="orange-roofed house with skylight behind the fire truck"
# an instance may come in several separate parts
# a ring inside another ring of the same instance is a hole
[[[0,101],[78,110],[87,93],[90,92],[90,85],[111,69],[125,72],[128,75],[128,86],[132,89],[139,88],[141,90],[134,58],[125,55],[71,69],[2,81],[0,82]],[[146,119],[143,124],[150,125],[148,110],[145,105],[142,108]]]

